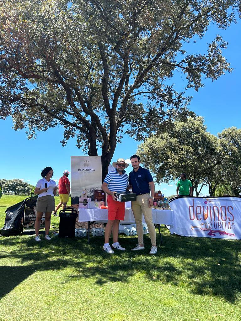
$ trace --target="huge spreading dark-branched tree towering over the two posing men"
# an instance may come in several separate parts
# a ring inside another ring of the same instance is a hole
[[[190,114],[190,98],[166,84],[176,69],[195,90],[202,76],[230,71],[220,36],[206,53],[183,45],[210,23],[226,29],[237,12],[237,0],[4,0],[0,117],[27,126],[28,138],[62,125],[63,145],[76,137],[89,155],[102,149],[105,177],[124,132],[141,140]]]

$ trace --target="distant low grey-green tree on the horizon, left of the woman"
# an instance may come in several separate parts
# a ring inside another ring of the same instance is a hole
[[[30,195],[32,185],[20,179],[8,179],[3,185],[3,194]]]

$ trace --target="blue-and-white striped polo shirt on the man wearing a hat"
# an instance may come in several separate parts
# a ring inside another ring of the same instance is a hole
[[[108,185],[110,191],[125,193],[129,182],[129,177],[123,172],[122,174],[119,174],[117,169],[115,169],[106,175],[104,182]]]

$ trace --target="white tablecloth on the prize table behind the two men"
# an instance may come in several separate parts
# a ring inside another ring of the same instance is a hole
[[[164,224],[173,226],[174,211],[172,210],[157,210],[152,209],[152,218],[154,224]],[[108,210],[107,209],[79,209],[79,222],[88,221],[101,221],[107,222],[108,220]],[[143,219],[144,221],[144,219]],[[135,223],[134,215],[131,208],[125,209],[125,219],[120,221],[120,224]]]

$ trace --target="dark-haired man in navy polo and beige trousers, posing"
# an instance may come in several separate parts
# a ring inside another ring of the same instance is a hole
[[[136,193],[136,201],[131,202],[131,209],[133,211],[136,230],[138,236],[138,245],[132,248],[132,251],[144,250],[143,241],[143,225],[142,225],[142,213],[148,226],[149,235],[151,239],[150,254],[156,254],[156,229],[152,220],[151,207],[153,206],[155,184],[149,170],[140,167],[140,157],[133,155],[130,157],[133,170],[129,173],[129,188],[132,188],[132,192]],[[151,196],[150,196],[151,189]]]

